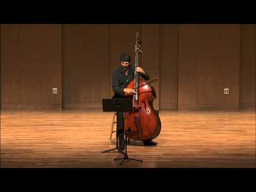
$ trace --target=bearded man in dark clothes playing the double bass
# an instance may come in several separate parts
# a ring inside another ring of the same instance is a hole
[[[112,78],[112,88],[114,91],[114,98],[125,98],[125,93],[136,93],[133,89],[126,89],[127,85],[132,81],[134,78],[134,66],[130,65],[131,62],[131,56],[127,53],[123,53],[120,55],[120,64],[118,68],[114,69],[113,78]],[[149,80],[149,75],[145,73],[145,71],[137,67],[136,71],[139,72],[139,75],[144,78],[146,81]],[[117,117],[120,117],[120,119],[117,119],[117,122],[120,123],[119,126],[117,126],[117,133],[118,133],[118,140],[119,140],[119,149],[124,150],[124,114],[123,112],[117,112],[121,113]],[[144,140],[142,141],[144,146],[155,146],[157,145],[156,142],[152,140]]]

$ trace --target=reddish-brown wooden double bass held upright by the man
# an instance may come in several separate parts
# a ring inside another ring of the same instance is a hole
[[[142,53],[139,33],[135,44],[135,68],[139,67],[139,54]],[[158,81],[146,82],[139,73],[134,70],[134,79],[126,88],[133,89],[137,94],[125,93],[125,97],[131,99],[133,104],[132,112],[124,114],[124,131],[127,137],[132,140],[148,140],[155,139],[161,131],[161,121],[159,111],[153,107],[153,101],[156,99],[156,92],[150,83]]]

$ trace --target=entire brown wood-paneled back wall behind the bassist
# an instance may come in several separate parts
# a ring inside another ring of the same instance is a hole
[[[134,65],[139,31],[140,66],[151,79],[160,77],[153,83],[155,109],[254,109],[255,28],[1,25],[1,107],[101,108],[101,99],[113,95],[119,54],[131,54]]]

